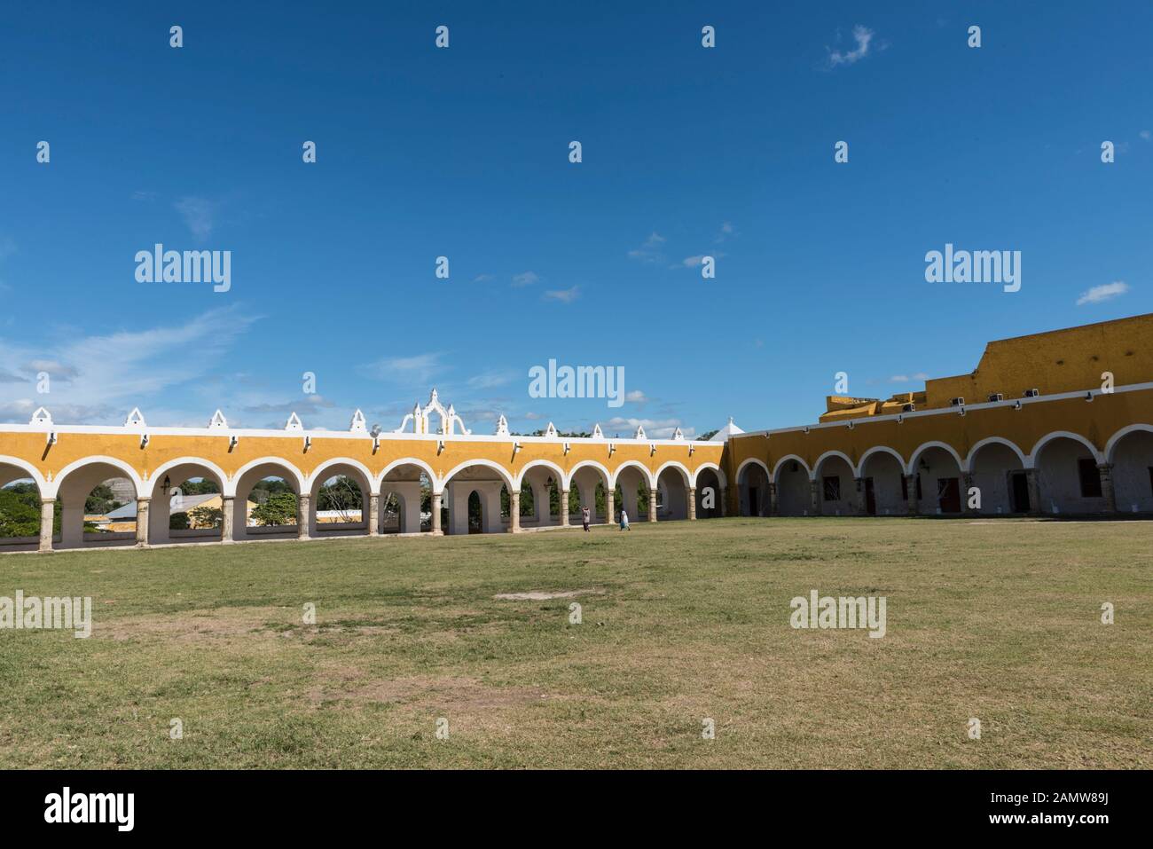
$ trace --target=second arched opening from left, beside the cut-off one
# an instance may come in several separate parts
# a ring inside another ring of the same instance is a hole
[[[68,472],[56,489],[60,548],[104,548],[137,542],[135,482],[100,460]]]

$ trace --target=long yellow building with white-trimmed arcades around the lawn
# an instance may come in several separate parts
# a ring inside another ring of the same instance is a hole
[[[549,489],[575,489],[594,521],[746,516],[900,516],[1153,512],[1153,315],[989,343],[967,375],[926,382],[888,399],[829,397],[812,424],[744,433],[730,420],[709,441],[473,434],[436,390],[391,433],[369,431],[356,411],[347,431],[231,428],[220,411],[204,428],[151,428],[138,410],[122,427],[56,424],[38,410],[28,424],[0,424],[0,486],[31,480],[43,501],[40,550],[90,544],[88,494],[110,478],[136,494],[136,544],[179,541],[168,532],[169,484],[217,482],[223,542],[269,536],[376,535],[422,529],[468,533],[469,502],[484,532],[565,526],[548,512]],[[355,521],[326,521],[315,504],[336,475],[356,481]],[[282,479],[296,494],[296,524],[253,527],[248,496]],[[733,482],[733,486],[730,486]],[[529,487],[537,512],[520,516]],[[605,513],[597,516],[601,488]],[[648,506],[638,514],[639,495]],[[620,494],[620,503],[617,499]],[[653,497],[653,496],[656,497]],[[52,536],[55,501],[62,532]],[[507,504],[507,506],[506,506]],[[443,523],[442,514],[447,516]],[[10,546],[7,548],[12,548]]]

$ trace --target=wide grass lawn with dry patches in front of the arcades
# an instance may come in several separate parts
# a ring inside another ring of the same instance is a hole
[[[1151,523],[2,556],[0,595],[17,589],[91,595],[95,622],[0,630],[6,768],[1153,767]],[[888,633],[793,630],[811,589],[887,596]],[[586,594],[493,598],[532,591]]]

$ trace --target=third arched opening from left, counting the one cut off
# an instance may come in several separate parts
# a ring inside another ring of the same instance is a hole
[[[224,534],[224,481],[210,466],[189,460],[152,475],[148,540],[219,542]]]

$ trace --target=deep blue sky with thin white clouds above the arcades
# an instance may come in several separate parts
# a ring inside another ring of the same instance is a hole
[[[783,427],[841,370],[888,397],[1153,311],[1148,3],[640,6],[6,10],[0,420],[391,429],[436,385],[475,433]],[[157,242],[231,290],[137,283]],[[1020,292],[926,283],[945,242]],[[549,359],[633,400],[530,398]]]

